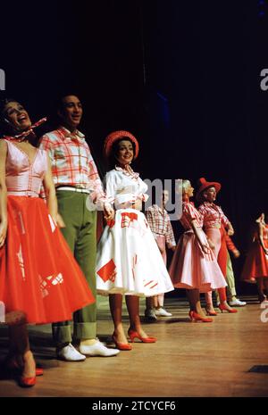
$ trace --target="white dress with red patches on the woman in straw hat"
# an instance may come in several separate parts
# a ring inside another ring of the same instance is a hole
[[[138,173],[116,168],[106,174],[105,190],[117,210],[97,245],[98,294],[152,296],[172,291],[145,215],[130,207],[147,199],[147,184]]]

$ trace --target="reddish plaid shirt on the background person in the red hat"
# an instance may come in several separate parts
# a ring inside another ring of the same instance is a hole
[[[222,212],[222,208],[215,203],[204,202],[200,204],[198,212],[202,217],[204,228],[224,228],[229,223],[228,218]]]

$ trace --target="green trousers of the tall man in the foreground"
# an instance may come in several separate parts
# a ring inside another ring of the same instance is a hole
[[[56,195],[65,223],[63,237],[96,298],[96,211],[87,209],[88,194],[58,190]],[[71,343],[70,321],[54,323],[52,329],[56,346]],[[73,337],[78,341],[96,338],[96,303],[73,313]]]

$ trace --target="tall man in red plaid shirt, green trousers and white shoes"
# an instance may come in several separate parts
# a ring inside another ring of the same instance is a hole
[[[96,209],[92,206],[103,206],[106,220],[113,219],[113,209],[105,200],[85,136],[78,130],[82,112],[82,104],[76,95],[63,96],[58,106],[61,125],[41,137],[40,148],[47,151],[51,160],[59,213],[65,224],[63,237],[96,296]],[[70,322],[53,324],[58,358],[82,361],[86,355],[113,356],[119,353],[96,339],[96,303],[74,312],[73,328],[79,351],[71,344]]]

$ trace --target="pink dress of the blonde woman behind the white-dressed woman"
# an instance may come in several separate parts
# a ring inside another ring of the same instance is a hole
[[[191,227],[192,220],[196,220],[201,237],[206,242],[200,213],[193,203],[183,202],[180,222],[185,232],[176,247],[169,273],[176,288],[198,289],[201,293],[206,293],[226,286],[226,281],[213,251],[203,253]]]

